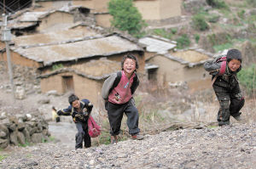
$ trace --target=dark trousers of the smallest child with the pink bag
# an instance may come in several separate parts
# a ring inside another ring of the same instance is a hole
[[[90,135],[88,133],[87,122],[77,121],[75,124],[78,129],[78,133],[76,134],[75,149],[83,148],[83,140],[84,140],[84,147],[86,148],[90,147],[91,141],[90,141]]]

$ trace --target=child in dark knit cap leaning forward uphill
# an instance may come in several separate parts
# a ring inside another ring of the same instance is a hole
[[[218,61],[220,59],[222,61]],[[236,76],[236,73],[241,70],[241,52],[230,49],[226,59],[218,57],[213,61],[207,61],[204,68],[212,75],[212,87],[220,104],[218,126],[229,125],[230,115],[240,121],[239,110],[245,102]],[[220,73],[222,70],[223,73]]]

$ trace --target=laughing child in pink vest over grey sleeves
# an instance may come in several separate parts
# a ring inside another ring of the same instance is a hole
[[[138,69],[137,58],[127,54],[121,61],[122,71],[113,73],[104,82],[102,98],[106,101],[108,120],[110,123],[111,144],[118,142],[118,134],[123,115],[127,115],[127,126],[133,139],[143,139],[139,134],[138,110],[135,106],[132,94],[135,92],[139,80],[136,70]]]

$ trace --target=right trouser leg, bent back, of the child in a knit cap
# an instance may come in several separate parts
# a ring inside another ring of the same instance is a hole
[[[245,102],[243,97],[241,97],[241,94],[231,96],[230,101],[230,115],[232,115],[233,117],[241,115],[239,111],[241,110]]]

